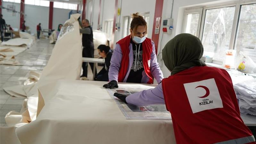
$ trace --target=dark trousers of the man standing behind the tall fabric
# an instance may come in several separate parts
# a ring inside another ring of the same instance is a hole
[[[83,55],[83,57],[86,57],[86,58],[94,58],[94,48],[84,47],[82,55]],[[90,67],[91,67],[92,72],[93,72],[94,63],[90,62],[89,64],[90,64]],[[82,68],[83,68],[83,75],[82,76],[87,77],[88,62],[83,62]],[[97,69],[96,68],[95,68],[95,74],[97,74]]]

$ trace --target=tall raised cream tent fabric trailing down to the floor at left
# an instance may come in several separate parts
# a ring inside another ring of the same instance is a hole
[[[59,39],[42,74],[31,72],[29,80],[25,82],[29,85],[4,88],[4,91],[10,95],[27,99],[20,113],[11,111],[5,116],[9,127],[0,127],[1,144],[15,143],[12,142],[17,140],[15,129],[36,120],[44,105],[55,95],[54,87],[56,87],[57,80],[79,79],[82,66],[82,41],[77,21],[79,16],[80,14],[71,15],[63,25]]]

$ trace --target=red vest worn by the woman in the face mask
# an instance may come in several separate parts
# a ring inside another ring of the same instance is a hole
[[[118,73],[118,82],[123,82],[127,72],[128,72],[128,66],[129,66],[129,45],[130,45],[130,35],[126,36],[125,38],[121,39],[117,42],[117,44],[120,45],[121,51],[122,51],[122,60],[120,65],[120,70]],[[149,77],[148,84],[153,84],[153,76],[150,72],[150,66],[148,65],[148,60],[151,60],[151,53],[152,53],[152,43],[151,39],[146,38],[146,40],[142,43],[142,59],[143,59],[143,66],[146,75]]]

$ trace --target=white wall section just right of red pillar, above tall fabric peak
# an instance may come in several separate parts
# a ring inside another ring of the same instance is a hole
[[[57,30],[59,24],[64,24],[69,19],[69,12],[71,10],[53,8],[53,29]]]

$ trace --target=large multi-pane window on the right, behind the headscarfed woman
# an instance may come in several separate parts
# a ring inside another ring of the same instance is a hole
[[[256,4],[241,2],[184,11],[183,32],[198,36],[204,56],[221,64],[226,50],[244,52],[256,61]]]

